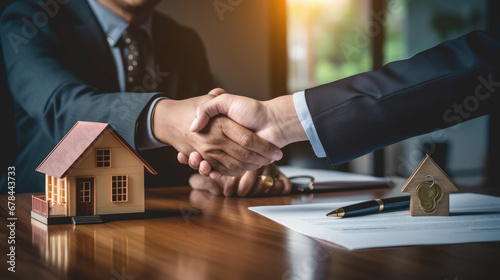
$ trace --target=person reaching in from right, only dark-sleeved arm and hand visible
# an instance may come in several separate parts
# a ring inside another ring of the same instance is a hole
[[[224,94],[197,110],[191,130],[218,114],[278,147],[309,140],[318,157],[340,164],[404,139],[494,113],[500,95],[500,30],[471,32],[377,71],[259,102]],[[186,154],[179,161],[188,163]],[[211,166],[189,155],[191,167]],[[212,177],[219,174],[213,171]]]

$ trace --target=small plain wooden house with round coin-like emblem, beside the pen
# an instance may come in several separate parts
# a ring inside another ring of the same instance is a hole
[[[436,162],[425,155],[401,191],[410,193],[410,215],[448,216],[450,193],[458,188]]]

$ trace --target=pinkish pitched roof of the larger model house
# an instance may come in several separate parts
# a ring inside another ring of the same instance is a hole
[[[57,146],[38,166],[36,171],[55,176],[65,177],[85,152],[105,132],[109,131],[115,138],[139,160],[152,174],[157,174],[139,153],[137,153],[113,128],[107,123],[77,122],[64,136]]]

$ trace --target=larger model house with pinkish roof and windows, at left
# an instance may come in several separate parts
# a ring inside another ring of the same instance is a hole
[[[109,124],[77,122],[36,169],[45,174],[45,195],[33,196],[32,217],[76,224],[144,213],[145,170],[156,174]]]

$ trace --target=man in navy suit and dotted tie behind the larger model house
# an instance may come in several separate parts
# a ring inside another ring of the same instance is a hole
[[[199,151],[229,175],[280,157],[279,149],[225,117],[203,133],[186,133],[214,83],[199,37],[155,12],[158,2],[25,0],[3,12],[18,192],[44,189],[35,168],[79,120],[109,123],[136,147],[160,174],[147,185],[187,183],[187,170],[172,164],[167,145]]]

